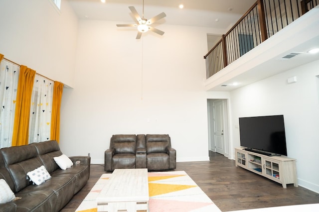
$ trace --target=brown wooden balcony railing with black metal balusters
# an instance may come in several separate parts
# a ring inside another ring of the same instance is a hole
[[[257,0],[204,56],[210,78],[317,6],[319,0]]]

